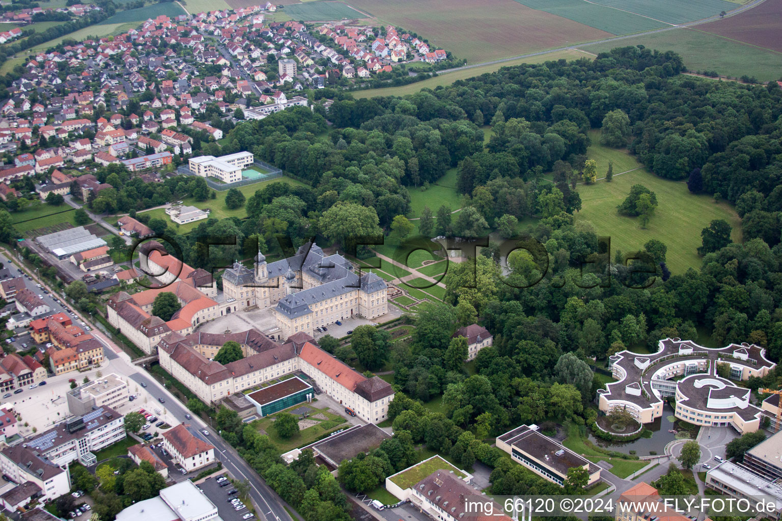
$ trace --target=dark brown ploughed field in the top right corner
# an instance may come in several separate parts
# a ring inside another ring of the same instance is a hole
[[[782,0],[766,0],[736,16],[704,23],[698,30],[782,52]]]

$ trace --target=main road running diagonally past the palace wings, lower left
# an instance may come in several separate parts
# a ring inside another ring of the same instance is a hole
[[[19,273],[17,270],[20,269],[20,267],[17,266],[16,263],[9,264],[8,260],[9,259],[6,255],[0,254],[0,262],[3,263],[3,266],[8,266],[13,273]],[[48,288],[38,288],[36,284],[41,283],[42,281],[38,280],[34,273],[30,273],[30,276],[33,278],[33,280],[28,280],[25,278],[25,284],[27,287],[30,287],[30,289],[35,291],[36,294],[40,293],[44,295],[46,303],[48,305],[52,305],[53,309],[56,309],[56,311],[52,311],[52,313],[62,310],[62,306],[58,305],[52,300],[52,298],[48,297],[48,293],[51,292],[48,290]],[[44,291],[44,289],[46,289],[46,291]],[[258,473],[250,468],[250,466],[247,465],[247,462],[245,462],[245,460],[242,459],[241,456],[239,456],[239,454],[233,448],[231,448],[231,446],[226,441],[223,440],[222,437],[220,437],[217,430],[214,430],[211,426],[203,423],[203,421],[198,417],[194,417],[193,419],[185,418],[185,414],[188,413],[188,410],[185,408],[185,405],[182,405],[182,403],[176,397],[174,397],[174,394],[171,394],[170,391],[159,384],[157,380],[152,378],[152,376],[149,376],[148,373],[138,369],[138,367],[131,362],[131,357],[127,355],[127,353],[125,353],[119,346],[117,346],[117,344],[114,344],[113,341],[107,337],[106,334],[103,334],[100,329],[95,328],[94,324],[92,324],[89,320],[85,320],[84,317],[77,319],[77,321],[82,320],[88,323],[88,326],[92,328],[91,333],[101,344],[103,344],[104,355],[107,359],[109,359],[109,361],[111,361],[112,369],[130,377],[131,380],[134,380],[142,387],[145,387],[146,391],[149,392],[152,398],[154,398],[156,401],[158,398],[163,398],[165,403],[160,404],[158,401],[158,406],[165,407],[167,412],[169,412],[170,415],[177,419],[178,423],[185,423],[187,429],[194,436],[199,437],[203,441],[207,441],[210,444],[213,444],[219,454],[220,461],[223,463],[223,466],[228,469],[228,473],[230,473],[231,476],[235,477],[236,479],[247,480],[249,482],[250,497],[253,498],[256,506],[259,507],[259,513],[262,512],[264,516],[263,518],[259,518],[261,521],[292,521],[292,518],[289,516],[288,512],[285,512],[285,501],[282,501],[282,498],[280,498],[276,492],[272,491],[271,488],[268,487],[263,478],[261,478]],[[17,343],[18,342],[19,341],[17,341]],[[204,436],[202,432],[203,430],[209,432],[209,435]]]

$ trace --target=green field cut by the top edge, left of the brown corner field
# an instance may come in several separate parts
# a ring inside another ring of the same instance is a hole
[[[737,5],[723,0],[590,0],[595,4],[634,12],[668,23],[685,23],[718,15],[721,11],[736,9]],[[526,2],[526,0],[524,0]],[[632,32],[632,31],[627,31]]]

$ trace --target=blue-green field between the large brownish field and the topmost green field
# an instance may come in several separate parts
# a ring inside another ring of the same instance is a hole
[[[591,2],[582,2],[582,0],[515,0],[515,2],[532,9],[550,12],[553,15],[583,23],[611,34],[637,33],[641,30],[657,29],[658,27],[668,25],[633,12],[613,9]],[[719,10],[713,14],[718,13]]]

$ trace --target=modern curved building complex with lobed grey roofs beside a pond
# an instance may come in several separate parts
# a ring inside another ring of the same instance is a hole
[[[651,423],[662,416],[665,399],[673,397],[677,418],[696,425],[730,425],[741,434],[759,429],[762,412],[750,403],[751,391],[732,380],[765,376],[777,365],[755,344],[705,348],[680,338],[659,341],[659,350],[650,355],[622,351],[608,360],[619,381],[597,391],[601,411],[624,409],[640,423]],[[718,366],[729,378],[718,376]]]

